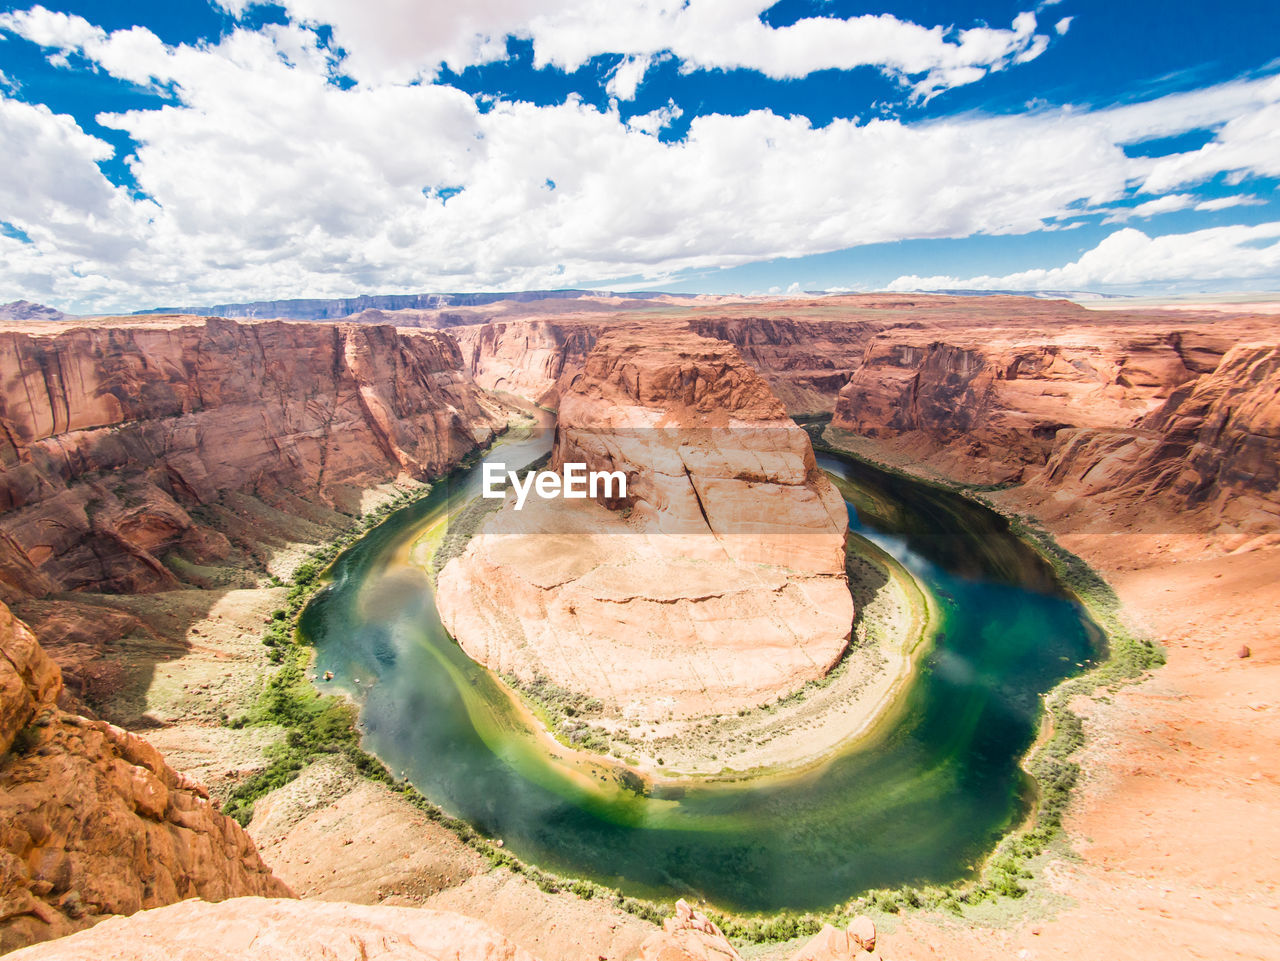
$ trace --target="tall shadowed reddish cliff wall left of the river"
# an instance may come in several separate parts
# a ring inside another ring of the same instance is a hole
[[[230,553],[198,517],[229,493],[349,513],[444,471],[497,422],[461,367],[447,335],[384,326],[0,331],[0,599],[175,587],[169,554]]]

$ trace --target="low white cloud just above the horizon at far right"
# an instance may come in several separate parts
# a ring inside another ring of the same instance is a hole
[[[1151,283],[1280,276],[1280,223],[1148,237],[1116,230],[1079,260],[1004,276],[900,276],[891,290],[1085,290]]]

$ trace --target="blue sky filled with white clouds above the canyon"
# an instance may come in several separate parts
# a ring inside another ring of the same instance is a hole
[[[0,4],[0,303],[1280,289],[1280,4]]]

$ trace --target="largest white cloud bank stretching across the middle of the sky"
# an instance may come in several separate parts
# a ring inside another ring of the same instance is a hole
[[[1263,78],[1110,110],[918,124],[815,128],[755,110],[694,118],[667,142],[655,134],[678,116],[675,102],[623,120],[616,104],[577,99],[481,109],[444,84],[344,90],[332,82],[344,68],[303,24],[197,46],[38,8],[0,15],[0,28],[169,92],[157,107],[97,118],[137,145],[127,163],[143,200],[99,170],[109,145],[0,93],[0,151],[19,163],[0,210],[31,238],[0,237],[0,301],[38,294],[70,310],[563,287],[1027,233],[1110,211],[1157,175],[1162,195],[1180,197],[1213,163],[1271,169],[1245,131],[1280,102]],[[989,59],[1006,40],[970,38],[965,56]],[[1124,150],[1202,127],[1230,148]]]

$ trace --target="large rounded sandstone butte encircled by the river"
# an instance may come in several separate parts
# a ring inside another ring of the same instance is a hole
[[[474,659],[628,720],[755,708],[840,660],[845,504],[730,344],[673,325],[602,335],[561,394],[550,470],[564,463],[621,471],[627,495],[517,511],[508,494],[439,576]]]

